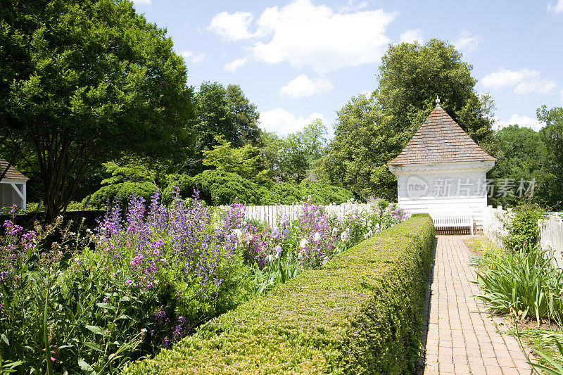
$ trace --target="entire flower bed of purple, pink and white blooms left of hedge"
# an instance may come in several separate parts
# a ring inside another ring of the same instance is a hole
[[[0,369],[106,374],[171,345],[209,319],[265,293],[407,218],[388,205],[344,215],[303,202],[297,220],[246,220],[236,200],[213,210],[194,193],[170,205],[107,210],[99,227],[56,224],[0,238]],[[48,236],[60,241],[45,248]]]

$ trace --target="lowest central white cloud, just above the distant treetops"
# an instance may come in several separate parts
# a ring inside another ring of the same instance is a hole
[[[319,118],[324,125],[327,125],[327,119],[321,113],[311,113],[308,117],[298,117],[287,110],[274,108],[260,112],[260,125],[267,132],[276,132],[280,136],[285,136],[301,131],[305,125],[309,125],[317,118]]]

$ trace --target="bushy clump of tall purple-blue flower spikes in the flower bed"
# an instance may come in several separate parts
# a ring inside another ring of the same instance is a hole
[[[165,337],[168,344],[238,303],[234,298],[244,298],[240,281],[232,280],[241,272],[236,237],[229,229],[237,219],[227,215],[223,224],[213,227],[211,212],[197,193],[184,201],[178,190],[169,207],[160,203],[157,191],[148,210],[143,198],[132,197],[125,220],[118,207],[101,220],[95,253],[106,272],[132,293],[165,303],[151,307],[153,316],[166,316],[153,319],[158,330],[148,331],[151,340]]]

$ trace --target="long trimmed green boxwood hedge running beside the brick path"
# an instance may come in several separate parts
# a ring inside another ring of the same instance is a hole
[[[414,215],[125,374],[409,374],[434,241]]]

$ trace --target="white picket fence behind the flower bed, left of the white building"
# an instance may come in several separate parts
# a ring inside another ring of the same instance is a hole
[[[372,203],[346,202],[341,205],[324,205],[324,211],[331,215],[348,215],[352,212],[363,212],[372,209]],[[226,210],[227,206],[222,206]],[[249,205],[246,207],[246,219],[267,222],[270,226],[277,224],[282,215],[292,222],[303,213],[303,204],[296,205]]]

